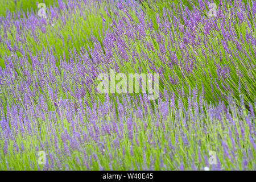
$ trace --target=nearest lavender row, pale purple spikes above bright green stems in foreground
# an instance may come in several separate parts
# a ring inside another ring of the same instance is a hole
[[[1,167],[255,170],[255,108],[250,104],[247,112],[242,96],[240,106],[231,96],[228,106],[214,106],[197,89],[192,93],[175,98],[165,92],[154,111],[147,96],[134,100],[129,95],[117,102],[117,111],[108,96],[92,108],[61,98],[53,111],[43,98],[34,107],[28,101],[26,110],[8,105],[1,120]],[[46,165],[39,166],[36,151],[46,151]],[[216,164],[209,164],[209,151],[216,152]]]

